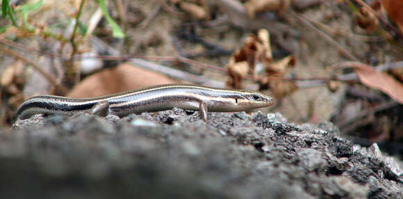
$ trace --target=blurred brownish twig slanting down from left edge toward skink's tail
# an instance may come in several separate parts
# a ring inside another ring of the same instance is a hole
[[[17,54],[17,52],[15,52],[13,50],[5,49],[5,48],[3,48],[1,46],[0,46],[0,51],[3,52],[3,54],[13,56],[15,58],[20,59],[21,61],[24,61],[24,63],[27,63],[28,65],[31,65],[35,70],[37,70],[40,74],[42,74],[42,76],[45,79],[47,79],[47,81],[49,81],[49,83],[51,83],[52,86],[55,86],[62,93],[67,93],[67,89],[64,86],[58,85],[58,83],[56,83],[56,80],[54,79],[54,77],[52,77],[50,74],[47,74],[47,72],[45,72],[42,69],[42,67],[40,67],[36,63],[33,63],[32,61],[29,61],[27,58],[24,58],[24,56],[21,56],[21,55]]]

